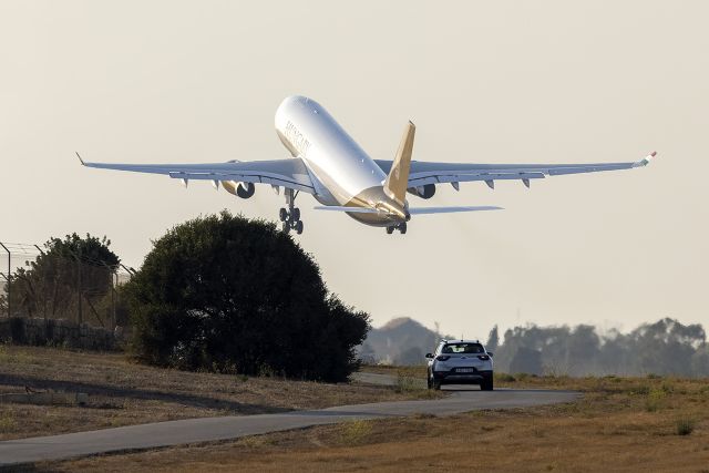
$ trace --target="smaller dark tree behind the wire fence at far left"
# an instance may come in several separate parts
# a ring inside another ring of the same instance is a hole
[[[120,263],[105,236],[82,238],[75,233],[48,240],[29,269],[19,268],[10,277],[13,315],[73,319],[85,308],[86,316],[103,322],[95,307],[111,290]]]

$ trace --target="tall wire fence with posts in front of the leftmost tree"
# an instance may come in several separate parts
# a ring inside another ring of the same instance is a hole
[[[62,319],[106,329],[125,325],[119,288],[133,269],[33,244],[0,241],[0,251],[1,316]]]

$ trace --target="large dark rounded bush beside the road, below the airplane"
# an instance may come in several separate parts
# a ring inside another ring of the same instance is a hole
[[[340,381],[369,329],[291,237],[228,212],[172,228],[124,289],[150,364]]]

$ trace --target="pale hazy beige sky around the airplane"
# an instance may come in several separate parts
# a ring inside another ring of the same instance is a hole
[[[408,120],[414,158],[635,161],[646,168],[441,186],[404,236],[312,210],[297,240],[374,323],[410,316],[485,338],[494,323],[709,323],[709,3],[703,1],[0,0],[0,240],[151,239],[282,196],[82,168],[273,160],[274,113],[316,99],[373,158]],[[392,271],[392,268],[395,268]]]

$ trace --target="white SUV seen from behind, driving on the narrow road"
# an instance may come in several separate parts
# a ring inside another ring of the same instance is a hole
[[[429,389],[441,384],[480,384],[483,391],[493,390],[492,353],[477,340],[441,340],[429,359]]]

